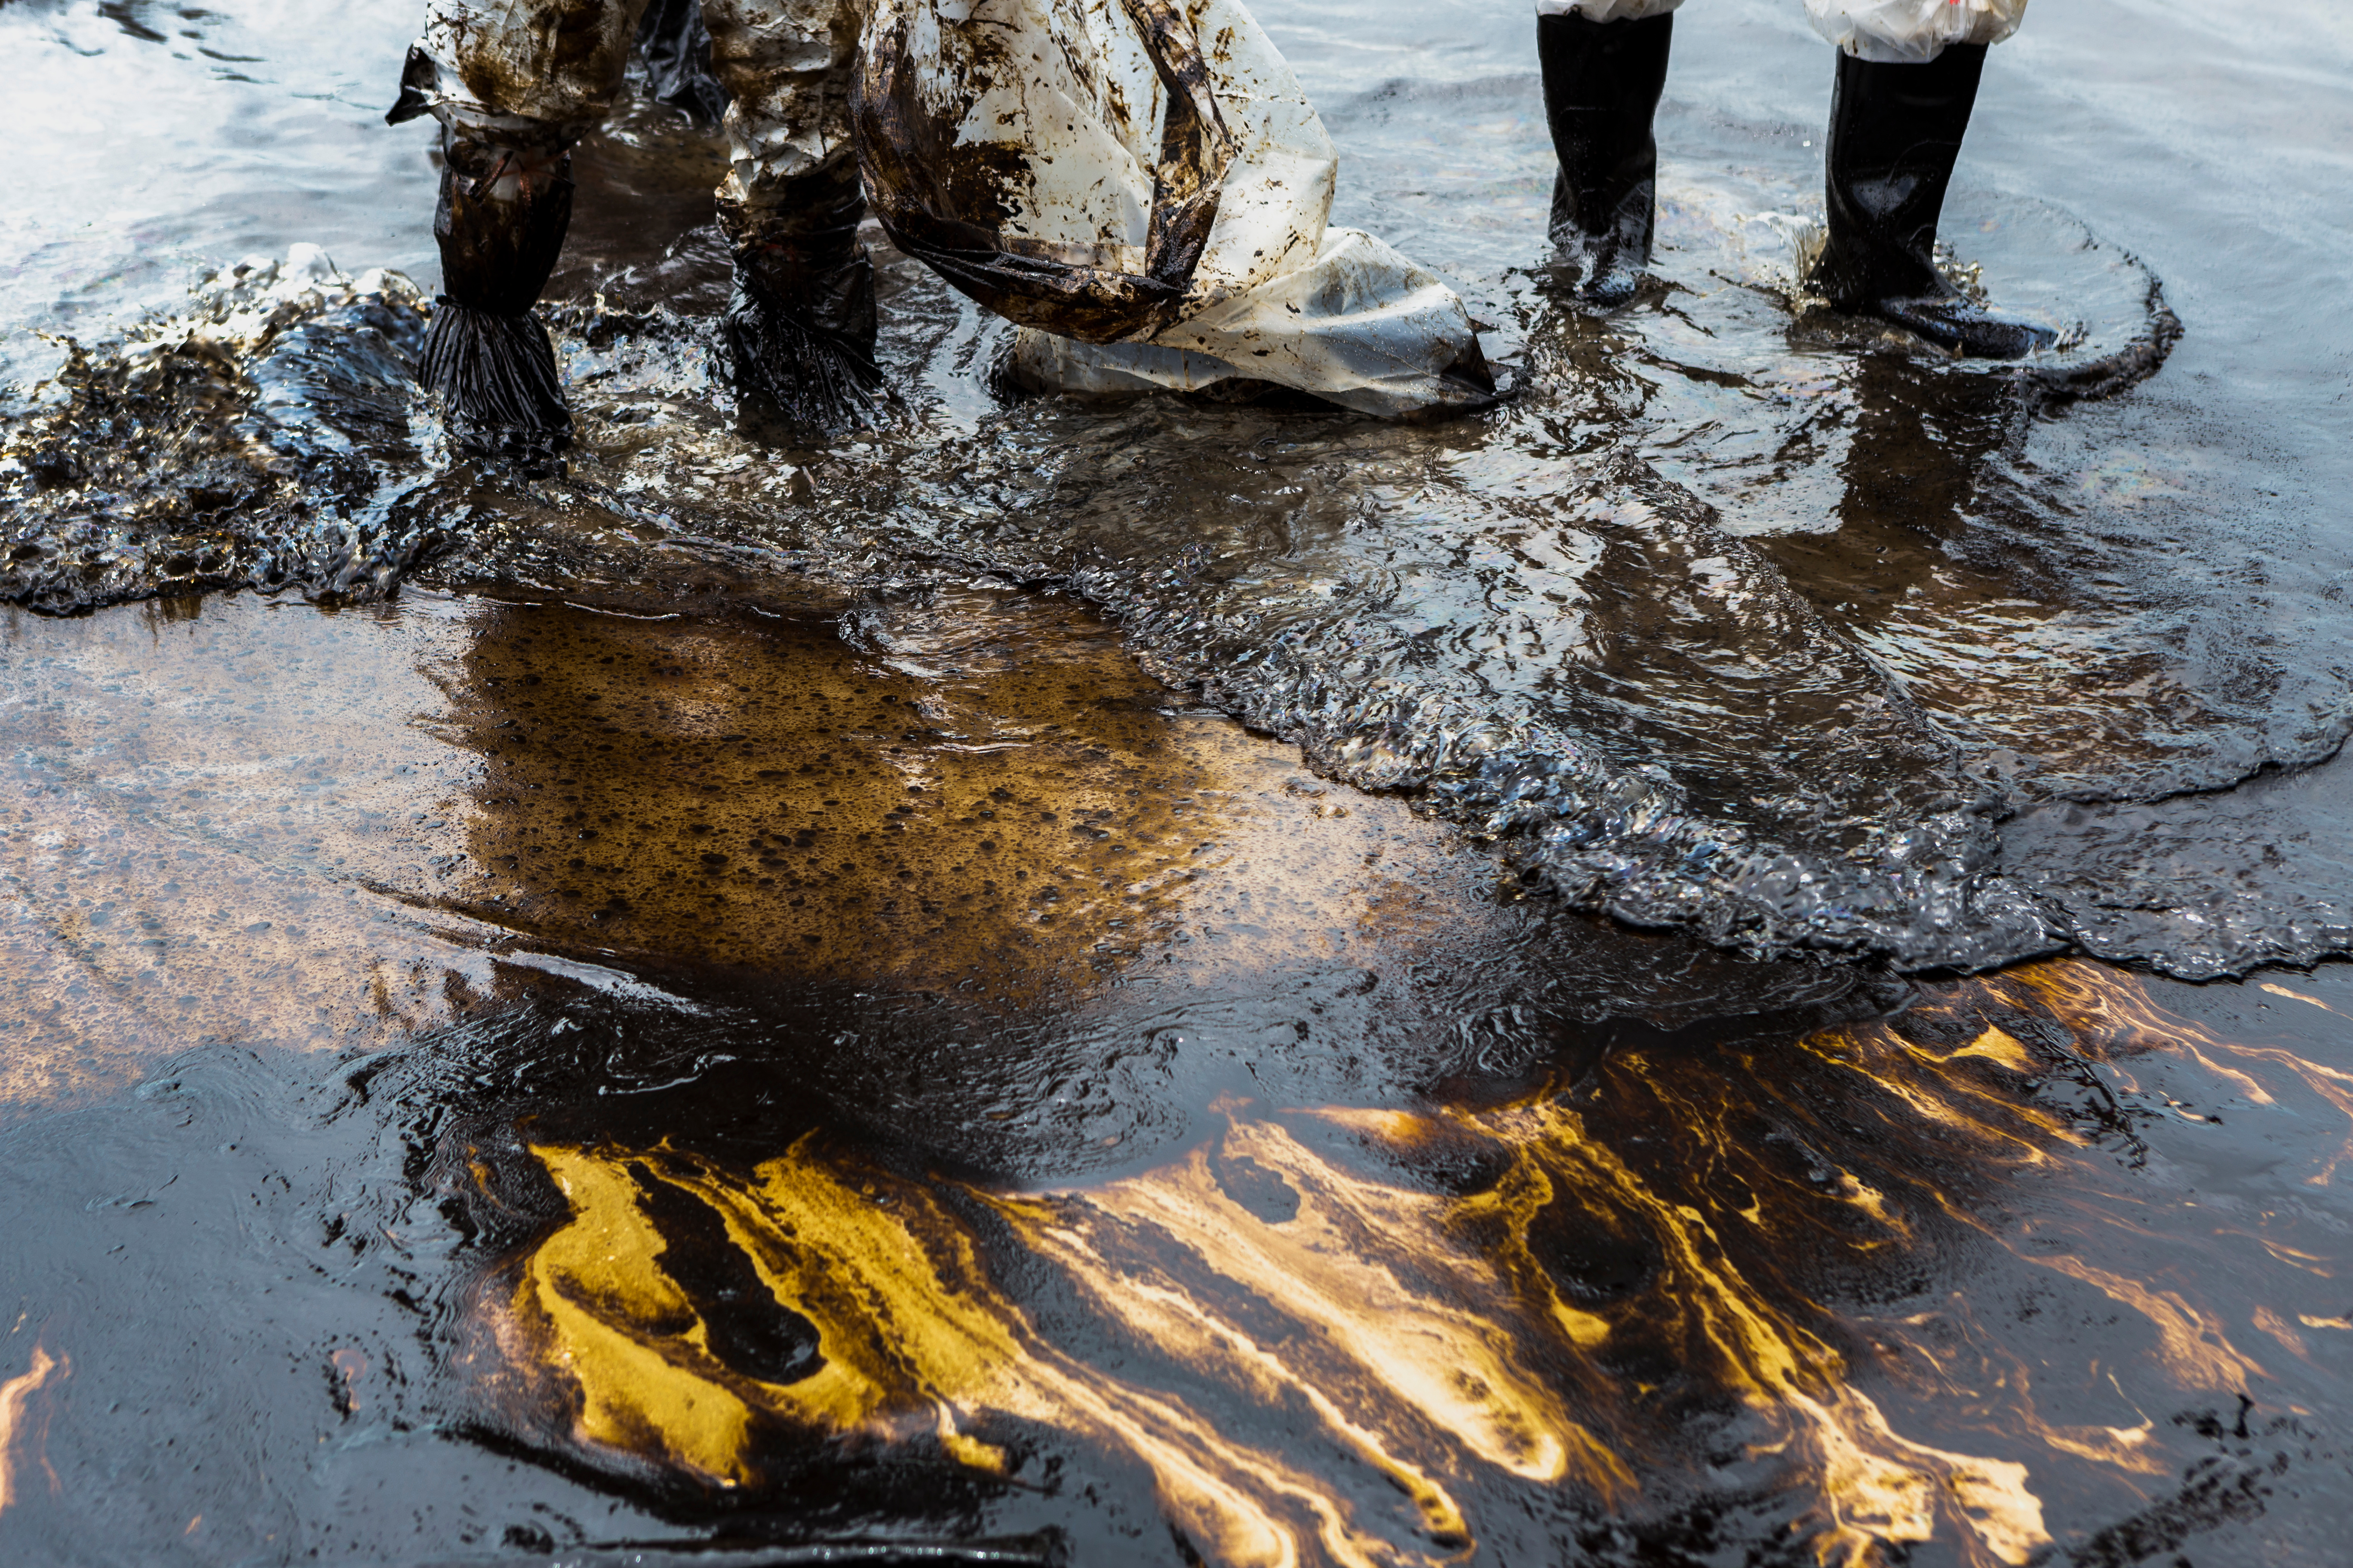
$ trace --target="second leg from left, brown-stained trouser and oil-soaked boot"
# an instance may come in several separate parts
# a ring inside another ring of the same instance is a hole
[[[873,418],[873,263],[859,244],[849,89],[861,0],[704,0],[727,106],[720,228],[734,252],[736,388],[809,430]]]

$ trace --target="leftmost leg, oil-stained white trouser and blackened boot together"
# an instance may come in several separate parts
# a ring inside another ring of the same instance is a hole
[[[572,155],[621,89],[645,0],[433,0],[393,125],[442,125],[442,294],[416,378],[468,449],[546,456],[572,430],[532,315],[572,223]]]

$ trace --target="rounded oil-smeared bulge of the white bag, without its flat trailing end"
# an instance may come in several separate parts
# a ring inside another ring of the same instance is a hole
[[[875,216],[998,315],[1132,343],[1315,259],[1339,150],[1240,0],[875,0],[864,56]]]

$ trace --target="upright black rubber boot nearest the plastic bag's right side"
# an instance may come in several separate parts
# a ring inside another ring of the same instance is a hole
[[[1553,247],[1579,268],[1577,294],[1598,306],[1631,299],[1649,266],[1659,186],[1649,122],[1673,40],[1673,12],[1640,21],[1537,16],[1544,118],[1560,155]]]

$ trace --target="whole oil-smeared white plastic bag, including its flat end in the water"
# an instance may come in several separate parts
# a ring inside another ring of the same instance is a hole
[[[856,127],[875,216],[1031,329],[1033,381],[1489,395],[1454,292],[1325,226],[1339,155],[1235,0],[880,0]]]

